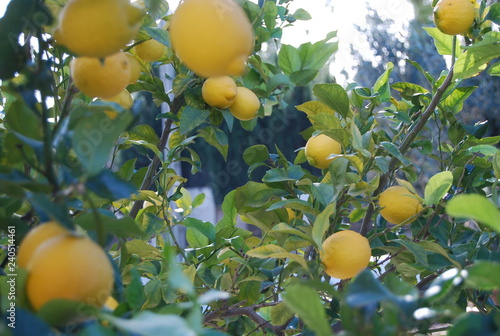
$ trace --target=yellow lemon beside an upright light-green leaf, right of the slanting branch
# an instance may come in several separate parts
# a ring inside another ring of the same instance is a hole
[[[380,193],[378,198],[378,203],[382,208],[380,214],[390,223],[401,224],[422,211],[422,205],[415,196],[402,186],[387,188]]]

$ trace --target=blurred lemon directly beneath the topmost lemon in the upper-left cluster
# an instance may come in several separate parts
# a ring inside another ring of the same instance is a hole
[[[104,60],[95,57],[77,57],[70,65],[75,86],[89,97],[116,96],[130,81],[130,61],[120,51]]]

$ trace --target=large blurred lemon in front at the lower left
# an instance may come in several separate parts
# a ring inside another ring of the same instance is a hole
[[[113,287],[113,267],[90,238],[65,234],[49,239],[28,263],[26,290],[35,310],[54,299],[102,307]]]

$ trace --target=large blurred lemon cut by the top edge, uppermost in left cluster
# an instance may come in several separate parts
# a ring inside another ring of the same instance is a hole
[[[54,37],[79,56],[106,57],[134,39],[142,16],[128,0],[70,0],[59,14]]]

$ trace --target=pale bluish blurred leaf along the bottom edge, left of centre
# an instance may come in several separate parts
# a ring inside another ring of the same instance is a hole
[[[196,336],[186,320],[177,315],[157,314],[152,311],[141,311],[131,319],[102,314],[101,317],[109,321],[119,330],[137,335],[169,335],[169,336]]]

